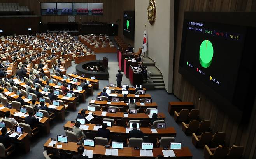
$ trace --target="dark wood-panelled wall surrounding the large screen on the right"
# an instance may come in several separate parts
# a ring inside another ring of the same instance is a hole
[[[256,100],[247,124],[234,121],[221,111],[214,101],[191,85],[178,73],[179,56],[181,51],[182,26],[185,11],[223,11],[223,12],[251,12],[256,10],[256,0],[179,0],[177,9],[177,36],[174,60],[174,95],[182,101],[193,102],[200,109],[200,117],[211,121],[213,132],[226,133],[226,145],[242,145],[245,147],[244,159],[256,158]],[[246,17],[245,17],[246,18]],[[254,19],[255,20],[255,19]],[[198,98],[202,100],[199,101]],[[255,98],[256,99],[256,98]]]

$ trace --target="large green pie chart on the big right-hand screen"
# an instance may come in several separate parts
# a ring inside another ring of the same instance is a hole
[[[208,68],[212,64],[213,46],[209,40],[204,40],[199,49],[199,61],[204,68]]]

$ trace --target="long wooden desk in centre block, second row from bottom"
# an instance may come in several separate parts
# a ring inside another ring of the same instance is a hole
[[[85,132],[91,132],[91,133],[97,133],[98,130],[93,130],[95,124],[86,124],[89,126],[88,130],[83,130]],[[68,121],[63,127],[64,130],[70,130],[75,126],[74,123],[71,123]],[[127,138],[128,133],[126,133],[126,128],[124,126],[112,126],[108,127],[107,129],[110,130],[110,134],[112,135],[123,135],[125,138]],[[145,136],[150,136],[150,137],[158,137],[159,139],[161,137],[175,137],[176,136],[176,131],[174,127],[168,127],[165,129],[156,129],[157,133],[152,133],[151,128],[149,127],[140,127],[140,130],[145,134]]]

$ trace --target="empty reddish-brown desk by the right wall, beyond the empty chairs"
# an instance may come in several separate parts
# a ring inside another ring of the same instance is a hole
[[[169,102],[168,112],[173,115],[174,111],[180,112],[181,109],[194,109],[192,102]]]

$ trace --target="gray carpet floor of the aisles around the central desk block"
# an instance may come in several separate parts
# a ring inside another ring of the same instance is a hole
[[[117,62],[117,54],[116,53],[109,53],[109,54],[96,54],[97,60],[102,60],[102,57],[108,57],[109,59],[109,81],[100,80],[99,88],[100,90],[94,90],[93,96],[87,96],[86,102],[77,105],[77,111],[65,111],[65,120],[58,121],[54,120],[50,123],[51,125],[51,133],[49,135],[39,135],[37,138],[32,138],[30,143],[30,152],[28,154],[24,154],[23,152],[15,153],[11,158],[13,159],[44,159],[42,152],[44,151],[43,145],[49,138],[56,138],[59,135],[65,135],[65,131],[63,130],[63,125],[67,121],[74,121],[77,112],[81,108],[86,108],[88,105],[88,101],[91,98],[95,97],[98,92],[100,92],[103,87],[109,85],[109,83],[116,83],[115,75],[117,73],[118,62]],[[67,69],[67,74],[72,73],[75,71],[76,64],[72,62],[72,66]],[[123,73],[124,74],[124,73]],[[125,76],[123,76],[123,84],[129,84],[130,81]],[[165,113],[167,126],[172,126],[177,131],[177,136],[175,137],[175,141],[182,142],[182,146],[189,147],[193,154],[193,159],[203,159],[203,149],[196,149],[194,145],[192,145],[191,137],[186,136],[181,130],[181,124],[177,124],[174,121],[174,118],[168,114],[168,102],[170,101],[179,101],[174,95],[168,94],[165,90],[154,90],[154,91],[147,91],[147,93],[151,94],[153,102],[158,104],[159,112]]]

